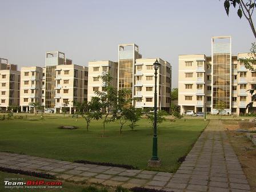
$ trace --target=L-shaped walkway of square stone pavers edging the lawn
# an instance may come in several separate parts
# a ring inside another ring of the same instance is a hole
[[[142,186],[183,192],[248,192],[250,186],[223,130],[221,121],[210,121],[175,174],[127,170],[3,152],[0,152],[0,166],[50,173],[70,181],[110,186]]]

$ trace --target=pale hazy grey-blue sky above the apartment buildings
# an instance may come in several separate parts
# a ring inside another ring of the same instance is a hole
[[[255,41],[245,17],[223,0],[0,0],[0,57],[22,66],[45,66],[46,51],[59,50],[76,65],[118,60],[118,44],[136,43],[142,58],[211,54],[211,37],[231,35],[232,54]]]

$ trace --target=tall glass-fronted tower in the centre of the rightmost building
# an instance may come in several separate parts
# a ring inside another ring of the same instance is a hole
[[[229,38],[230,39],[230,38]],[[218,39],[218,40],[227,40]],[[215,39],[214,39],[215,41]],[[225,103],[225,109],[231,110],[230,107],[230,90],[231,90],[231,48],[230,42],[214,43],[213,41],[213,109],[219,101]]]

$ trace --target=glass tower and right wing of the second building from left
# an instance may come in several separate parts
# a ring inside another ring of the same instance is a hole
[[[45,108],[61,113],[75,110],[74,102],[87,101],[88,68],[74,65],[59,51],[46,53]]]

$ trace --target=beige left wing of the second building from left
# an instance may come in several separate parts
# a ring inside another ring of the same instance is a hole
[[[21,67],[21,111],[34,112],[30,102],[45,103],[45,68]]]

